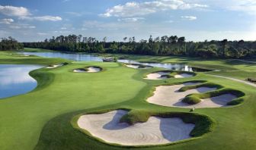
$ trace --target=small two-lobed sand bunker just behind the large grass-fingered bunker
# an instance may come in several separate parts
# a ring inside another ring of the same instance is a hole
[[[166,75],[169,75],[171,73],[170,72],[164,72],[164,71],[159,71],[156,73],[149,73],[145,79],[148,80],[164,80],[164,79],[168,79],[168,77],[166,77]],[[193,77],[193,74],[190,73],[181,73],[181,74],[176,74],[174,75],[174,78],[184,78],[184,77]]]

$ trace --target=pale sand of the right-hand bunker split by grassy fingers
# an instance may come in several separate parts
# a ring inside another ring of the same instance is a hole
[[[200,103],[195,105],[189,105],[187,103],[181,102],[181,100],[189,94],[208,92],[213,91],[216,88],[209,87],[200,87],[197,89],[189,89],[185,92],[179,92],[178,89],[181,89],[183,86],[190,86],[197,83],[184,83],[181,85],[174,86],[158,86],[155,89],[154,95],[147,99],[147,102],[169,106],[169,107],[181,107],[181,108],[220,108],[226,106],[227,102],[232,101],[234,98],[237,98],[232,94],[223,94],[213,98],[201,99]]]

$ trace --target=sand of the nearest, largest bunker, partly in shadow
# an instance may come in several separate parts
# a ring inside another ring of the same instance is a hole
[[[194,124],[180,118],[149,117],[146,123],[130,126],[119,123],[127,111],[110,111],[105,114],[86,114],[78,119],[78,127],[92,136],[120,145],[158,145],[190,138]]]

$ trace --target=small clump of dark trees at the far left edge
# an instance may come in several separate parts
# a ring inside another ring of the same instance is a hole
[[[11,36],[8,38],[2,38],[0,41],[0,51],[8,50],[19,50],[23,49],[23,43],[19,43],[17,40],[13,39]]]

